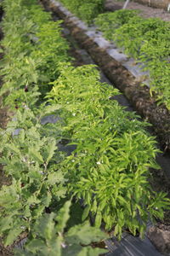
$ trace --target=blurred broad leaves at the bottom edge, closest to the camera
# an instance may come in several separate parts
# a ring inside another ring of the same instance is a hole
[[[71,201],[67,201],[57,215],[52,212],[39,218],[32,228],[34,238],[26,242],[25,251],[15,250],[15,255],[98,256],[99,253],[105,253],[103,249],[93,249],[89,246],[92,241],[104,239],[105,233],[91,227],[88,222],[64,231],[70,218],[70,206]]]

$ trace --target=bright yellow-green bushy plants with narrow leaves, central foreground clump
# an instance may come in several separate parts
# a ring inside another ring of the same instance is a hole
[[[77,145],[63,165],[71,192],[86,206],[82,219],[91,212],[96,226],[103,219],[121,237],[124,228],[142,234],[149,215],[162,218],[169,201],[148,182],[149,168],[159,168],[154,138],[145,123],[110,100],[113,94],[117,90],[99,83],[94,66],[65,64],[48,98],[60,105],[65,137]]]

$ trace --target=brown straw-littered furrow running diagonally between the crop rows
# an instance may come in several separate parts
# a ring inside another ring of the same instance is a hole
[[[62,8],[62,5],[55,1],[44,0],[42,2],[48,4],[50,9],[56,12],[61,19],[65,20],[65,26],[71,30],[72,36],[77,39],[82,48],[87,49],[88,53],[99,67],[102,68],[111,82],[116,84],[116,87],[127,96],[127,99],[132,102],[133,107],[138,113],[153,125],[162,149],[169,150],[170,112],[163,105],[157,106],[155,97],[150,96],[149,88],[141,86],[144,77],[134,77],[133,73],[124,67],[123,61],[125,61],[125,56],[122,56],[117,61],[116,54],[111,56],[108,54],[107,48],[99,47],[99,44],[95,42],[98,35],[95,33],[92,36],[89,35],[88,27],[83,27],[79,20],[73,18],[71,13]]]

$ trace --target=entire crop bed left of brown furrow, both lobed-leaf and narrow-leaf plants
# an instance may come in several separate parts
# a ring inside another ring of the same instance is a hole
[[[107,236],[101,224],[119,238],[125,229],[142,236],[170,205],[148,182],[149,168],[159,168],[148,124],[111,100],[118,91],[99,82],[96,67],[73,67],[60,21],[37,0],[2,4],[0,93],[13,112],[0,131],[4,246],[24,236],[17,256],[94,256],[104,252],[90,247]],[[42,122],[51,115],[56,122]],[[67,155],[59,143],[76,149]]]

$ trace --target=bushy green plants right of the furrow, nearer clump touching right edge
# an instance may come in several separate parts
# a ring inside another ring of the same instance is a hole
[[[170,108],[170,25],[168,22],[144,19],[136,11],[119,10],[96,19],[105,38],[114,40],[128,55],[143,62],[150,71],[150,93],[156,92],[158,103]]]

